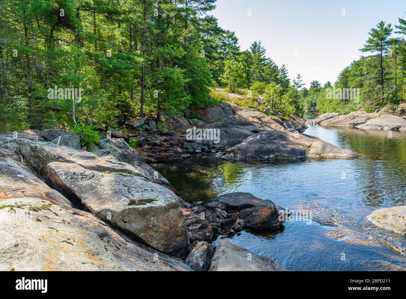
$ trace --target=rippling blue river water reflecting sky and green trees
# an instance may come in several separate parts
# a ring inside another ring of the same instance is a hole
[[[189,202],[241,191],[311,211],[311,224],[288,221],[279,230],[244,231],[231,240],[289,270],[406,270],[406,238],[365,218],[381,207],[406,205],[406,133],[388,138],[387,131],[326,126],[304,133],[362,156],[296,163],[205,158],[157,168]]]

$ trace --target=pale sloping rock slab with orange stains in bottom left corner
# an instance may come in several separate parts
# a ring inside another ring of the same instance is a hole
[[[191,271],[90,213],[42,198],[0,204],[0,271]]]

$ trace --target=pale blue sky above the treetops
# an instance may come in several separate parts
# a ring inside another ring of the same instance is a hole
[[[406,17],[405,0],[217,0],[216,5],[210,14],[235,31],[241,50],[261,40],[266,55],[279,66],[285,63],[291,79],[300,73],[306,87],[312,80],[334,82],[362,55],[358,49],[370,28],[381,20],[394,28],[398,17]]]

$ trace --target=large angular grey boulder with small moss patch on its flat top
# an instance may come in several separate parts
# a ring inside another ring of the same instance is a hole
[[[52,162],[48,177],[70,190],[92,214],[159,251],[186,256],[186,225],[176,195],[142,177],[103,173],[78,164]]]

